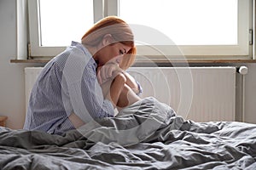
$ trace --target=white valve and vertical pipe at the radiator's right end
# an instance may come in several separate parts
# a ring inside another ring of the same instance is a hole
[[[240,66],[236,71],[241,74],[241,122],[245,122],[245,75],[248,68],[247,66]]]

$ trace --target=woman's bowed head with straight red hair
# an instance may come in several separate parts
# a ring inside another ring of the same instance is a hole
[[[131,28],[116,16],[108,16],[98,21],[84,34],[82,43],[85,46],[100,47],[96,55],[103,65],[106,59],[116,57],[114,55],[117,51],[119,55],[125,53],[125,57],[119,64],[122,69],[130,67],[135,60],[136,47]]]

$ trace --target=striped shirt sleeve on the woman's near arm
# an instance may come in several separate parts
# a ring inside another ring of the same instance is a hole
[[[63,70],[64,84],[67,84],[65,90],[73,111],[84,122],[114,115],[112,103],[104,99],[97,82],[94,64],[92,58],[86,59],[83,54],[76,52],[67,59]]]

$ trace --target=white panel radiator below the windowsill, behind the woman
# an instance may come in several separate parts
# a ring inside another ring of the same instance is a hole
[[[26,67],[26,105],[41,67]],[[195,122],[235,121],[236,67],[131,67],[128,72],[177,115]]]

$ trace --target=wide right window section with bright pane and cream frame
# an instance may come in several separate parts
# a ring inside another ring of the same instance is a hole
[[[247,0],[119,0],[119,16],[148,26],[140,33],[154,39],[154,48],[142,46],[143,54],[168,55],[177,45],[188,58],[247,58],[252,6]]]

